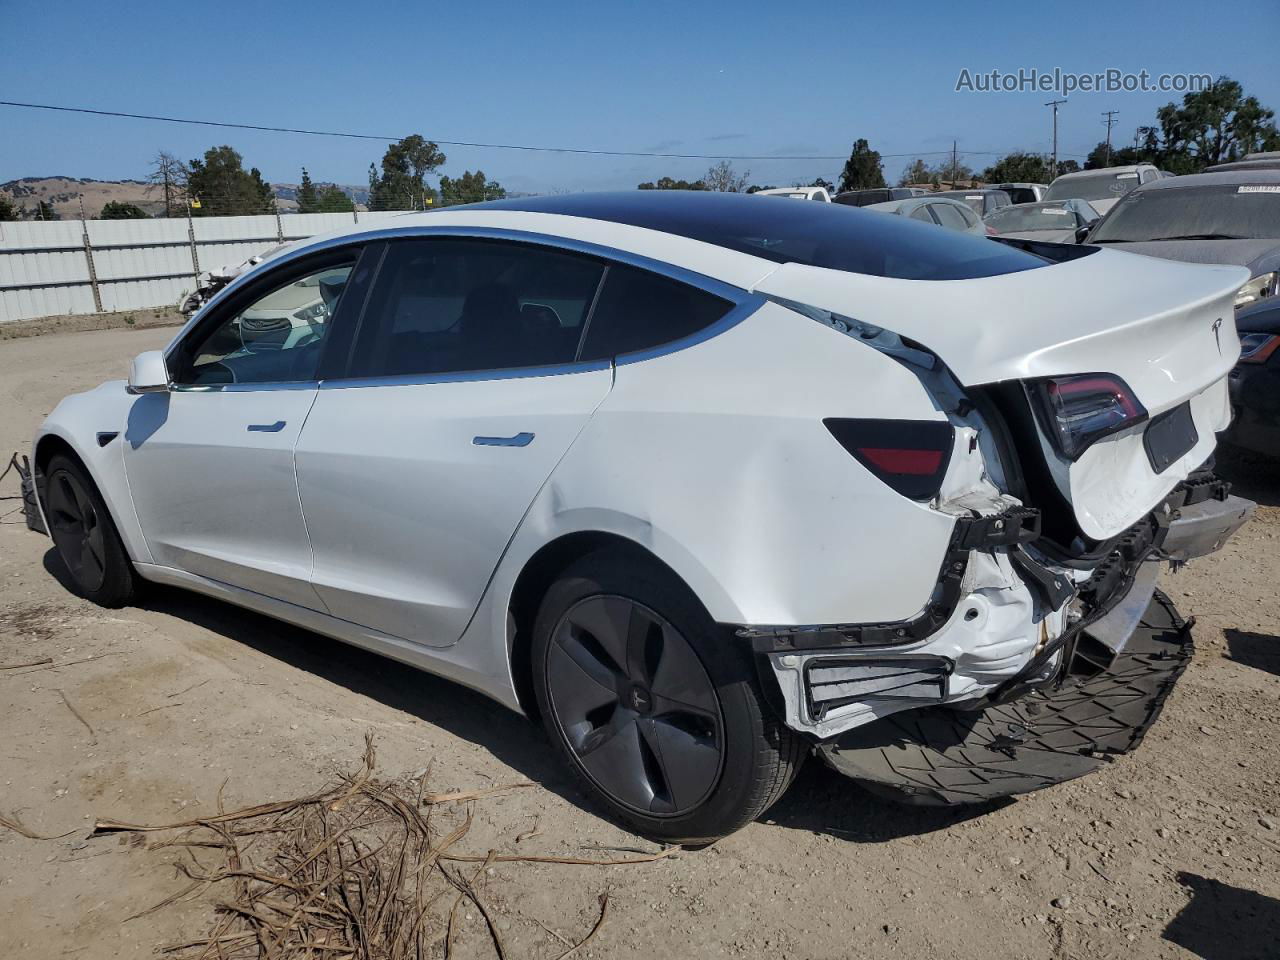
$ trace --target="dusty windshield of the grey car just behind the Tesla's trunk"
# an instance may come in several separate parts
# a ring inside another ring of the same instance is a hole
[[[1091,243],[1280,238],[1280,183],[1165,187],[1117,204]]]

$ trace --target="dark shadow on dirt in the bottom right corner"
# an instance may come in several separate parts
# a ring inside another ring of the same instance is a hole
[[[1179,873],[1178,882],[1192,900],[1165,927],[1165,940],[1203,960],[1276,956],[1280,900],[1194,873]]]

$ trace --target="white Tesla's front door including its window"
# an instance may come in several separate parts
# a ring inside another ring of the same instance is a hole
[[[172,387],[134,402],[124,466],[157,564],[312,609],[293,448],[356,253],[250,283],[177,342]]]

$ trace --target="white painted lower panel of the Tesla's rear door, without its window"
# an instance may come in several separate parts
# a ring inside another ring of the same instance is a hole
[[[312,584],[329,612],[415,643],[456,643],[611,383],[607,364],[584,364],[554,375],[324,384],[297,476]]]

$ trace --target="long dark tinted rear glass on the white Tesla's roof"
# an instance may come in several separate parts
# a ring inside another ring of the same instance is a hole
[[[964,280],[1051,262],[984,237],[840,204],[762,204],[741,193],[634,191],[521,197],[483,209],[645,227],[773,260],[901,280]]]

